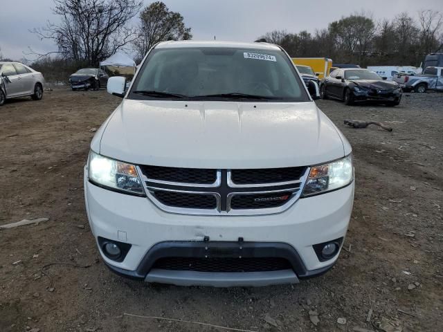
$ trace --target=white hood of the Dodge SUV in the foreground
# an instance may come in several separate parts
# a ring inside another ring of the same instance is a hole
[[[314,165],[351,151],[314,102],[126,99],[91,149],[134,164],[223,169]]]

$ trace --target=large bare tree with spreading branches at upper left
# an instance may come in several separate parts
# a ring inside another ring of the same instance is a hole
[[[31,30],[40,39],[53,39],[57,50],[39,57],[57,53],[64,59],[98,62],[136,37],[127,23],[141,8],[139,0],[54,0],[53,12],[60,23],[48,21],[46,27]]]

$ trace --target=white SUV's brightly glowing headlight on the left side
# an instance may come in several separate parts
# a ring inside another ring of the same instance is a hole
[[[110,190],[144,195],[143,186],[134,165],[89,153],[89,180]]]

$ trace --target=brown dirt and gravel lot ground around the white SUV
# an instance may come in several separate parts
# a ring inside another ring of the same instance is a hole
[[[230,289],[132,282],[100,260],[82,172],[90,129],[119,102],[55,89],[0,107],[0,225],[49,218],[0,231],[0,331],[226,331],[123,313],[251,331],[443,331],[443,94],[406,94],[395,108],[320,100],[354,148],[346,250],[322,277]],[[394,131],[345,128],[346,118]]]

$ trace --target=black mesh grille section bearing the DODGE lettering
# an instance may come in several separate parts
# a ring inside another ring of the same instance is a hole
[[[291,198],[292,192],[273,194],[236,194],[230,200],[230,208],[235,210],[277,208]]]

